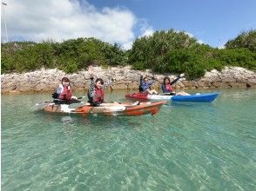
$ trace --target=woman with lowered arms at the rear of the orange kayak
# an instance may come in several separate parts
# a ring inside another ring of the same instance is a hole
[[[62,78],[61,83],[57,86],[56,92],[52,95],[54,102],[59,104],[71,104],[80,102],[76,96],[72,96],[70,79]]]

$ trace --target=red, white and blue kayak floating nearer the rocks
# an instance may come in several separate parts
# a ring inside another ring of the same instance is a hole
[[[144,93],[126,94],[127,98],[139,100],[171,100],[172,102],[213,102],[219,93],[204,93],[195,95],[147,95]]]

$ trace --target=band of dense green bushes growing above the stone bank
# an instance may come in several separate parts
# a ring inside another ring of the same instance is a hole
[[[156,31],[137,38],[129,50],[95,38],[55,42],[3,43],[2,73],[35,69],[63,69],[74,73],[88,65],[125,66],[152,69],[158,73],[185,73],[190,78],[204,76],[206,70],[240,66],[256,70],[256,30],[243,32],[226,43],[226,49],[198,43],[183,31]]]

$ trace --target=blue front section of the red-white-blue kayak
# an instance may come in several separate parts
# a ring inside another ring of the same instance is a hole
[[[173,95],[172,102],[213,102],[219,93],[205,93],[195,95]]]

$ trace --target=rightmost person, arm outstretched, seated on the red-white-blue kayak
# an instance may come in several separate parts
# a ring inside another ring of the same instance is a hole
[[[171,82],[170,77],[165,77],[164,78],[164,82],[162,83],[161,87],[162,87],[162,91],[164,94],[168,94],[168,95],[190,95],[188,93],[185,93],[184,91],[181,91],[179,93],[176,93],[174,91],[174,89],[172,88],[172,84],[174,84],[175,82],[178,82],[180,78],[182,78],[182,75],[179,75],[175,80],[173,80]]]

